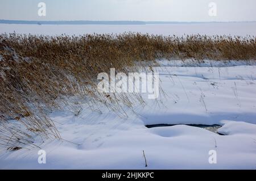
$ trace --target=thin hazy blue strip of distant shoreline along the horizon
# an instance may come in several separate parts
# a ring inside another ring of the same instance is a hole
[[[37,21],[37,20],[3,20],[0,24],[48,24],[48,25],[82,25],[82,24],[99,24],[99,25],[146,25],[146,24],[201,24],[201,23],[256,23],[251,22],[143,22],[143,21],[93,21],[93,20],[53,20],[53,21]]]

